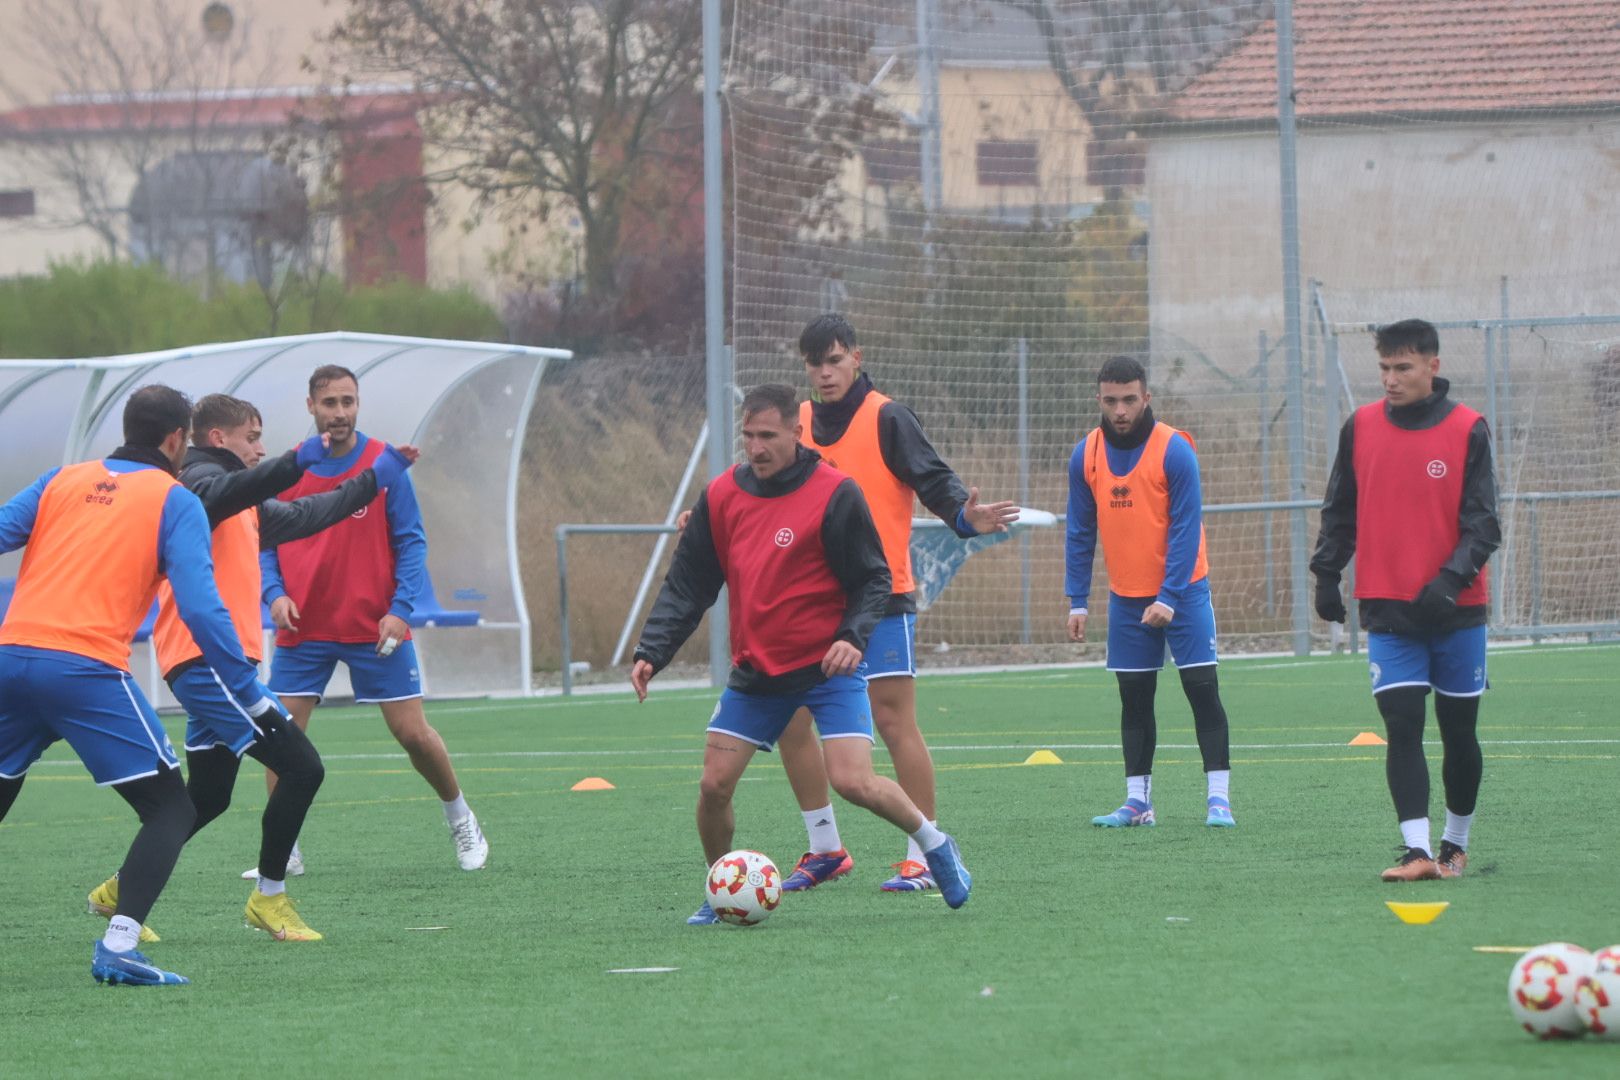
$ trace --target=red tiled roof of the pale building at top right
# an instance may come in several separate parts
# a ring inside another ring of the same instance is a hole
[[[1615,0],[1296,0],[1298,117],[1620,105]],[[1170,118],[1272,120],[1277,23],[1194,79]]]

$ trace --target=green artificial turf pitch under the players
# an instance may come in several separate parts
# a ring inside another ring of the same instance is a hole
[[[1223,664],[1231,831],[1204,826],[1171,672],[1160,824],[1128,831],[1089,824],[1124,787],[1111,675],[928,677],[940,823],[972,900],[881,894],[904,840],[839,803],[855,871],[753,929],[684,923],[713,691],[433,703],[492,845],[481,873],[455,868],[376,711],[324,708],[327,780],[290,892],[326,941],[243,928],[264,806],[249,763],[152,912],[149,955],[193,980],[172,989],[89,978],[84,894],[134,819],[58,743],[0,826],[0,1075],[1620,1075],[1620,1044],[1518,1030],[1513,957],[1474,950],[1620,941],[1617,659],[1492,653],[1469,873],[1409,886],[1377,879],[1400,840],[1382,748],[1346,745],[1382,730],[1359,657]],[[1022,764],[1042,748],[1063,764]],[[1439,839],[1437,745],[1430,764]],[[569,790],[590,776],[614,790]],[[735,808],[737,845],[789,870],[805,837],[774,756]],[[1452,907],[1406,926],[1387,899]],[[648,967],[677,970],[614,973]]]

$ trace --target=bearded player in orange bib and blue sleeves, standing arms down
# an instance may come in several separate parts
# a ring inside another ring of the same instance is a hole
[[[1113,356],[1097,372],[1102,423],[1069,458],[1064,544],[1069,640],[1085,640],[1092,563],[1108,565],[1108,670],[1119,683],[1126,798],[1094,826],[1150,826],[1153,695],[1165,644],[1192,706],[1209,803],[1204,824],[1231,827],[1226,709],[1215,678],[1215,609],[1204,549],[1204,495],[1192,439],[1153,418],[1147,371]]]

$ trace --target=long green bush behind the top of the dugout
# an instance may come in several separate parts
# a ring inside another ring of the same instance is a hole
[[[275,303],[258,285],[222,283],[204,298],[154,266],[63,262],[0,280],[0,356],[144,353],[321,330],[505,340],[501,317],[467,288],[389,282],[345,290],[334,277],[285,283]]]

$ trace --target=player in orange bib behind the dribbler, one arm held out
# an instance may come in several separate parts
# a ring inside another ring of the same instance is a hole
[[[1006,533],[1017,520],[1011,502],[978,502],[978,489],[966,489],[946,465],[917,421],[917,415],[872,385],[860,369],[855,329],[844,316],[818,316],[799,335],[813,398],[799,408],[805,445],[820,452],[828,465],[850,476],[872,508],[883,541],[893,593],[883,620],[872,631],[860,674],[867,677],[872,719],[894,761],[894,776],[906,795],[928,821],[935,821],[933,758],[917,727],[917,599],[910,567],[912,502],[920,499],[930,512],[970,538]],[[782,767],[804,813],[810,850],[782,882],[787,892],[812,889],[847,874],[854,860],[838,834],[838,819],[828,798],[821,746],[800,714],[782,733]],[[894,863],[885,892],[922,892],[935,881],[915,840],[907,840],[906,858]]]

